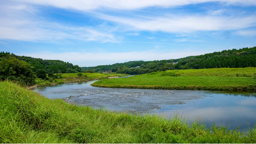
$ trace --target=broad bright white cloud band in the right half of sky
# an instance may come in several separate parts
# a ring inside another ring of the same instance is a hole
[[[99,15],[100,18],[127,26],[127,29],[140,31],[163,31],[167,33],[190,33],[193,31],[218,31],[242,29],[256,26],[256,16],[216,17],[172,15],[148,19],[124,18]]]

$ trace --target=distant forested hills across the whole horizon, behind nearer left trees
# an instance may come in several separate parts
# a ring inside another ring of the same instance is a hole
[[[43,60],[41,58],[17,56],[9,52],[0,52],[0,57],[8,56],[15,57],[18,60],[24,60],[33,66],[32,70],[34,72],[37,71],[37,69],[45,69],[47,73],[78,73],[84,71],[93,73],[111,71],[135,75],[172,69],[256,67],[256,47],[228,49],[220,52],[170,60],[140,60],[95,67],[79,67],[78,65],[74,66],[69,62],[63,62],[61,60]]]

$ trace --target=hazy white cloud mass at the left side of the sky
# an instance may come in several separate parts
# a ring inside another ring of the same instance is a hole
[[[57,22],[48,22],[38,16],[39,10],[27,5],[4,4],[0,6],[0,39],[11,40],[84,40],[100,42],[116,42],[109,27],[102,29],[100,25],[69,26]],[[39,18],[38,18],[39,17]]]

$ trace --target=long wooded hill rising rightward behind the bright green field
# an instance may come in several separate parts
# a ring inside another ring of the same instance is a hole
[[[178,62],[178,63],[177,63]],[[172,69],[204,69],[219,67],[256,67],[256,47],[224,50],[186,58],[155,61],[131,61],[113,65],[82,67],[96,72],[112,71],[130,75]]]

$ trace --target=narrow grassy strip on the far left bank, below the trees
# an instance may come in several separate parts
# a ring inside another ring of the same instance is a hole
[[[49,86],[54,84],[63,84],[69,82],[85,82],[89,80],[99,80],[99,79],[107,79],[108,77],[124,77],[128,74],[120,74],[120,73],[81,73],[82,76],[78,76],[78,73],[62,73],[62,74],[54,74],[57,75],[58,78],[37,78],[35,80],[36,86]]]

